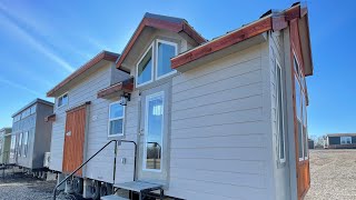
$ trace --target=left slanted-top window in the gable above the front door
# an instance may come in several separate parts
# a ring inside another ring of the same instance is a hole
[[[145,84],[152,81],[152,52],[151,46],[137,66],[137,84]]]

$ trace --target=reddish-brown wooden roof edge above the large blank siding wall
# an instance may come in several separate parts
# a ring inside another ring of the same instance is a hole
[[[221,37],[218,37],[211,41],[202,43],[196,48],[192,48],[186,52],[178,54],[177,57],[171,58],[171,67],[178,69],[189,62],[196,61],[200,58],[204,58],[208,54],[218,52],[222,49],[229,48],[234,44],[243,42],[247,39],[261,34],[266,31],[278,31],[287,28],[288,22],[294,19],[300,19],[306,16],[307,19],[307,8],[301,7],[300,3],[294,3],[291,8],[284,10],[281,12],[269,10],[261,16],[260,19],[243,26],[239,29],[230,31]],[[306,27],[306,37],[308,42],[309,58],[310,63],[305,64],[310,68],[306,76],[313,74],[313,62],[312,62],[312,51],[310,51],[310,40],[309,40],[309,30],[308,26]]]

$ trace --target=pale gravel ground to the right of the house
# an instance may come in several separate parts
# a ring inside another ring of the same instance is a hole
[[[310,150],[310,189],[305,200],[355,200],[356,150]]]

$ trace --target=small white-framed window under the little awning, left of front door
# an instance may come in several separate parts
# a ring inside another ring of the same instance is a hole
[[[109,137],[123,136],[125,107],[120,102],[113,102],[109,108]]]

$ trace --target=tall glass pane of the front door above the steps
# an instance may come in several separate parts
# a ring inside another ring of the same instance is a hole
[[[146,154],[145,167],[150,170],[161,169],[162,131],[164,131],[164,96],[148,97],[146,101]]]

